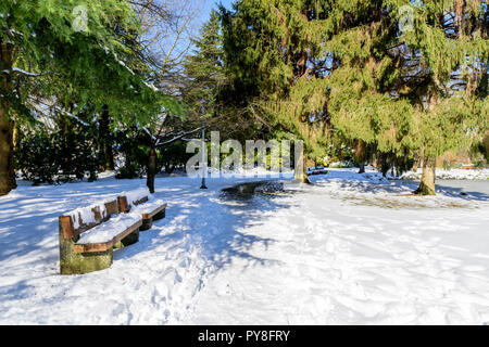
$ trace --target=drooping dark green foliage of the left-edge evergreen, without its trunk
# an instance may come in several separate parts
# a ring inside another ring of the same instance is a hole
[[[87,30],[77,31],[75,7],[87,11]],[[11,94],[12,105],[24,116],[20,105],[28,104],[33,94],[51,97],[68,93],[62,102],[97,107],[111,104],[113,112],[128,117],[128,99],[148,101],[151,93],[141,78],[122,62],[129,53],[126,44],[129,33],[138,24],[130,5],[125,1],[2,1],[0,40],[11,42],[15,67],[39,74],[25,78],[11,73],[18,92]],[[115,28],[115,29],[114,29]],[[138,95],[138,98],[130,98]]]

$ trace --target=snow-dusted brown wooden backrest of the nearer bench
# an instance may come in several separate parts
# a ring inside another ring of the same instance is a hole
[[[108,221],[112,215],[121,213],[117,200],[77,208],[60,217],[60,228],[64,239],[73,239],[101,223]]]

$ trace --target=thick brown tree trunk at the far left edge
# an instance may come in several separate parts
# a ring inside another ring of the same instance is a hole
[[[7,195],[17,187],[13,165],[13,128],[10,115],[12,98],[11,72],[13,66],[13,47],[0,40],[0,196]],[[9,73],[2,73],[8,70]]]

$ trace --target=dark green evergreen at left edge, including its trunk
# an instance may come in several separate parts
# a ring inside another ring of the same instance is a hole
[[[0,195],[15,188],[15,119],[32,117],[39,100],[109,105],[120,121],[154,112],[154,91],[124,61],[138,29],[127,2],[5,0],[0,13]]]

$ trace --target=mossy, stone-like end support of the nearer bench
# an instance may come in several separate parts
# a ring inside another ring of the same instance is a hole
[[[75,253],[73,246],[76,241],[64,240],[60,235],[60,271],[61,274],[82,274],[104,270],[111,267],[112,249],[100,253]]]

